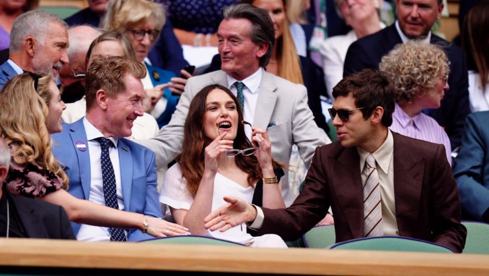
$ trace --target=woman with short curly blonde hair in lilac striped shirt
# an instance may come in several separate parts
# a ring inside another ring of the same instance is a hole
[[[445,146],[449,164],[451,147],[448,135],[426,108],[439,108],[448,90],[450,68],[445,52],[437,45],[410,41],[399,44],[382,58],[380,69],[396,88],[396,109],[390,129],[416,139]]]

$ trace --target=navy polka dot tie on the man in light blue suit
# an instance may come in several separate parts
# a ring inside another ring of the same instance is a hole
[[[119,209],[117,192],[115,189],[114,168],[112,167],[112,162],[110,161],[110,156],[108,154],[108,148],[114,147],[114,144],[105,137],[98,137],[95,141],[100,143],[100,148],[102,150],[100,164],[102,166],[103,199],[105,200],[105,205],[114,209]],[[110,228],[109,230],[110,237],[113,241],[127,241],[122,228]]]

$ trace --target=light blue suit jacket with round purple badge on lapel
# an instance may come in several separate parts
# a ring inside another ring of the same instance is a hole
[[[90,195],[90,155],[83,118],[71,124],[63,124],[63,131],[52,135],[53,153],[70,178],[68,192],[80,199]],[[85,143],[87,150],[80,151],[75,143]],[[120,181],[124,196],[124,210],[152,217],[162,217],[158,191],[156,190],[155,153],[125,138],[117,142],[120,165]],[[75,235],[80,224],[72,223]],[[128,241],[149,239],[152,236],[137,229],[130,229]]]

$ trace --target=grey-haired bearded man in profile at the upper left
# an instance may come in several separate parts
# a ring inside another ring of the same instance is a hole
[[[24,70],[56,79],[68,63],[67,27],[59,17],[41,10],[19,16],[10,33],[9,59],[0,65],[0,89]]]

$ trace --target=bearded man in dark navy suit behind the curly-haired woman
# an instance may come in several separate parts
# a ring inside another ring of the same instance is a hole
[[[410,39],[426,40],[442,46],[450,61],[450,89],[445,92],[440,108],[426,111],[445,128],[453,151],[460,145],[463,121],[470,113],[468,80],[463,50],[430,32],[435,21],[440,18],[442,9],[442,0],[396,0],[398,21],[353,42],[346,53],[343,76],[365,68],[378,69],[383,56],[397,44]]]

